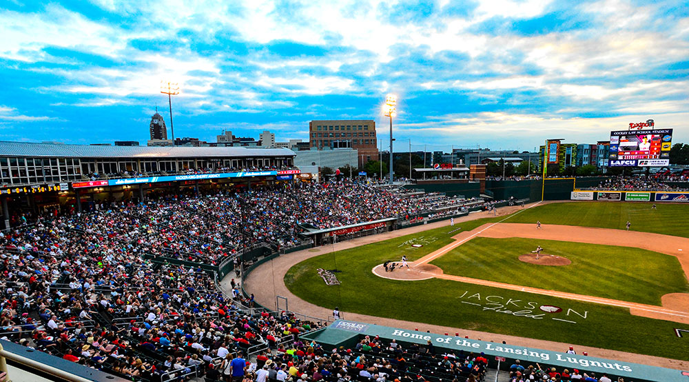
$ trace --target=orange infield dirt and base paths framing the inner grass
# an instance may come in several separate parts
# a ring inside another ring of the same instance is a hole
[[[674,237],[648,232],[612,230],[609,228],[576,227],[571,225],[544,224],[541,225],[540,229],[537,229],[533,224],[522,223],[486,223],[469,232],[457,234],[453,237],[455,242],[450,243],[439,250],[435,250],[430,254],[427,254],[410,265],[411,274],[409,276],[404,275],[404,273],[406,273],[405,269],[395,270],[395,272],[384,272],[382,268],[376,267],[373,268],[373,273],[385,279],[423,280],[436,277],[438,279],[460,281],[462,283],[486,285],[493,288],[542,294],[544,296],[553,296],[588,303],[599,303],[603,305],[617,306],[619,308],[628,308],[631,314],[635,314],[637,316],[689,324],[689,310],[687,310],[689,306],[689,294],[686,293],[672,293],[663,296],[661,299],[663,306],[660,307],[657,305],[630,303],[628,301],[605,299],[602,297],[587,296],[584,294],[558,292],[556,290],[531,288],[522,285],[455,276],[453,274],[442,273],[440,268],[438,268],[440,272],[438,272],[438,270],[433,270],[433,272],[424,272],[426,267],[430,265],[429,263],[431,261],[438,259],[439,257],[457,248],[463,243],[466,243],[466,241],[469,241],[474,237],[491,237],[496,239],[506,237],[526,237],[528,239],[574,241],[578,243],[604,245],[615,243],[615,245],[623,247],[643,248],[645,250],[652,250],[677,257],[682,269],[689,278],[689,239],[683,237]]]

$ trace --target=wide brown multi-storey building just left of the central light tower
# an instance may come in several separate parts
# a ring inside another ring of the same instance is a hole
[[[378,159],[376,121],[372,119],[346,119],[309,122],[309,143],[317,150],[348,149],[358,151],[359,165]]]

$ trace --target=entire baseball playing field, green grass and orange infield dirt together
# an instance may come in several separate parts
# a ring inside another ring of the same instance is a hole
[[[677,330],[689,331],[688,213],[674,204],[539,205],[320,254],[284,281],[300,299],[343,312],[687,361],[689,335]],[[409,269],[382,268],[402,256]],[[340,285],[325,285],[319,268]]]

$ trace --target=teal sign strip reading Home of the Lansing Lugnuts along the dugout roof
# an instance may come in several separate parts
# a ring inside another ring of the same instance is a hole
[[[418,343],[420,345],[426,345],[426,343],[430,341],[436,348],[442,348],[444,351],[453,350],[456,352],[462,350],[464,352],[473,352],[474,354],[484,352],[491,358],[498,356],[505,357],[508,361],[521,359],[522,363],[524,363],[524,361],[547,363],[548,365],[559,368],[568,368],[570,370],[582,369],[598,374],[606,373],[608,376],[621,376],[624,379],[633,379],[635,381],[686,381],[686,376],[683,376],[681,370],[601,359],[593,356],[551,352],[549,350],[526,348],[524,346],[504,345],[502,343],[465,339],[462,336],[442,336],[440,334],[402,330],[389,328],[387,326],[345,320],[335,321],[335,323],[325,330],[347,330],[348,332],[356,332],[360,336],[380,336],[382,339],[395,339],[398,342],[404,341],[407,343]]]

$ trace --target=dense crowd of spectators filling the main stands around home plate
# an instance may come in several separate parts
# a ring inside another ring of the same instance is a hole
[[[201,264],[166,258],[218,265],[256,243],[300,243],[302,224],[331,228],[477,202],[342,180],[23,217],[19,227],[0,233],[0,338],[134,381],[212,376],[238,352],[268,346],[282,354],[274,365],[282,364],[294,382],[303,374],[340,381],[334,376],[380,367],[392,369],[391,381],[417,381],[398,359],[413,354],[389,354],[384,364],[322,353],[296,341],[320,323],[284,312],[250,314],[253,300],[237,283],[225,294]]]

